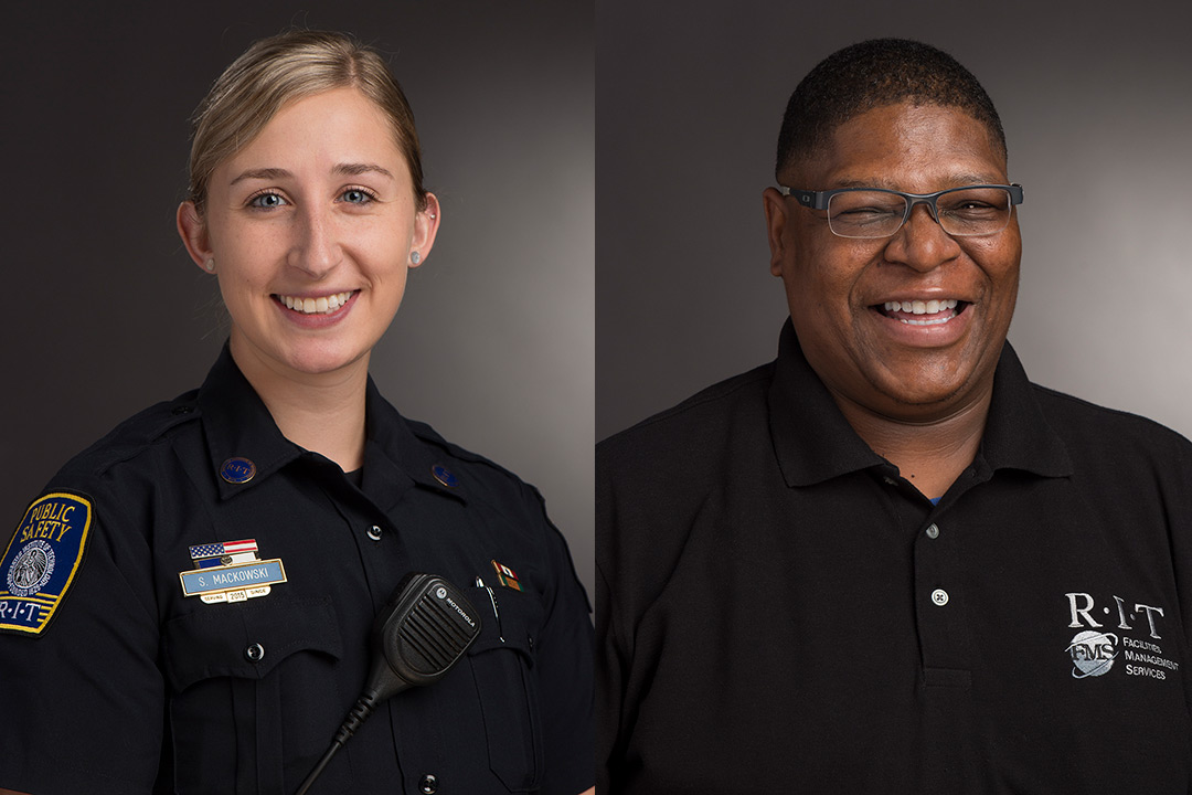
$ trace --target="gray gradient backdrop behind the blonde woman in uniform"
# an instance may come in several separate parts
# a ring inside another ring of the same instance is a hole
[[[70,455],[197,386],[225,337],[174,231],[187,118],[253,39],[391,55],[443,224],[372,373],[406,416],[534,483],[592,586],[590,2],[112,2],[6,8],[0,518]]]

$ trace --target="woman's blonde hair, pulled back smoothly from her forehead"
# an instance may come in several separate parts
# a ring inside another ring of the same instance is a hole
[[[427,191],[414,112],[384,61],[346,33],[296,30],[249,46],[194,112],[187,199],[199,216],[216,167],[247,147],[286,103],[348,86],[385,113],[410,169],[415,203],[423,210]]]

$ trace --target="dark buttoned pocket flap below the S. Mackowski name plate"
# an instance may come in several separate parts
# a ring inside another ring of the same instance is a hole
[[[342,657],[330,598],[215,604],[164,628],[167,675],[178,691],[218,676],[260,679],[299,651]]]

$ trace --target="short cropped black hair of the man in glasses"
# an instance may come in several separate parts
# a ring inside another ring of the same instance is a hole
[[[775,175],[826,145],[849,119],[904,101],[964,111],[1005,155],[1001,119],[971,72],[929,44],[875,38],[827,56],[795,88],[782,117]]]

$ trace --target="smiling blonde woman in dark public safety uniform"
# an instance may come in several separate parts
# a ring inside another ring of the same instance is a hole
[[[368,378],[441,221],[418,153],[381,60],[339,33],[257,42],[203,101],[178,228],[230,337],[200,389],[70,461],[0,547],[0,787],[296,791],[416,571],[458,586],[480,634],[310,791],[591,785],[591,625],[565,542],[532,487]]]

